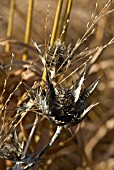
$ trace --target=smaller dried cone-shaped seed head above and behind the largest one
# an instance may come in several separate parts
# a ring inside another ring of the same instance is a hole
[[[61,41],[61,39],[57,39],[52,46],[50,46],[50,44],[47,45],[45,56],[41,53],[41,50],[39,49],[36,42],[33,43],[37,49],[42,63],[48,68],[51,78],[55,76],[56,72],[60,73],[63,71],[64,67],[67,66],[68,62],[72,58],[70,45],[66,46],[65,43]]]

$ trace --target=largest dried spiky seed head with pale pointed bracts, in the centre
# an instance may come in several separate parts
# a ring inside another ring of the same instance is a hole
[[[97,86],[99,79],[89,88],[84,89],[81,94],[85,74],[86,65],[76,83],[72,87],[65,87],[54,86],[46,71],[45,88],[40,86],[35,100],[38,109],[54,124],[64,127],[74,126],[81,122],[89,110],[97,104],[87,107],[88,97]]]

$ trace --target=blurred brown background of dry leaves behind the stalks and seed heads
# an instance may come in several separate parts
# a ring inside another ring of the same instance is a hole
[[[12,31],[8,35],[8,22],[10,15],[11,1],[0,0],[0,92],[2,93],[6,74],[3,68],[9,69],[12,52],[14,59],[12,70],[9,73],[9,79],[3,101],[7,99],[12,90],[20,81],[26,67],[33,64],[24,78],[28,85],[32,85],[34,81],[38,81],[42,77],[43,66],[39,60],[39,56],[33,46],[32,39],[38,44],[44,44],[45,39],[49,39],[52,32],[56,8],[58,0],[39,1],[34,0],[33,14],[31,19],[31,28],[28,40],[26,39],[26,22],[29,0],[14,1],[14,16],[12,22]],[[96,13],[99,13],[107,0],[100,0]],[[45,24],[48,5],[48,21],[45,36]],[[72,43],[83,36],[86,26],[91,18],[92,12],[95,10],[96,0],[74,0],[70,14],[70,23],[66,35],[66,44]],[[64,6],[63,6],[64,8]],[[110,10],[114,8],[114,4],[110,6]],[[94,34],[83,43],[77,53],[83,51],[86,47],[94,49],[97,46],[107,44],[114,37],[114,12],[104,16],[96,24]],[[8,45],[9,43],[9,45]],[[42,49],[43,51],[43,49]],[[24,54],[26,54],[25,57]],[[81,60],[83,62],[83,60]],[[78,66],[76,63],[73,67]],[[81,123],[77,131],[77,127],[71,128],[72,134],[64,129],[54,143],[54,145],[46,152],[44,159],[32,169],[38,170],[113,170],[114,169],[114,44],[104,49],[97,57],[95,63],[89,70],[85,85],[90,85],[100,74],[102,78],[97,90],[90,98],[90,103],[99,102],[100,104],[89,112],[87,118]],[[76,79],[77,75],[74,75]],[[22,86],[16,90],[7,111],[16,106],[17,101],[24,93],[25,88]],[[18,127],[18,138],[20,142],[26,142],[30,129],[33,125],[35,115],[29,113],[22,120]],[[55,126],[47,119],[41,119],[37,125],[35,134],[32,138],[28,152],[39,152],[52,136]],[[10,161],[0,159],[0,169],[6,170],[13,166]]]

